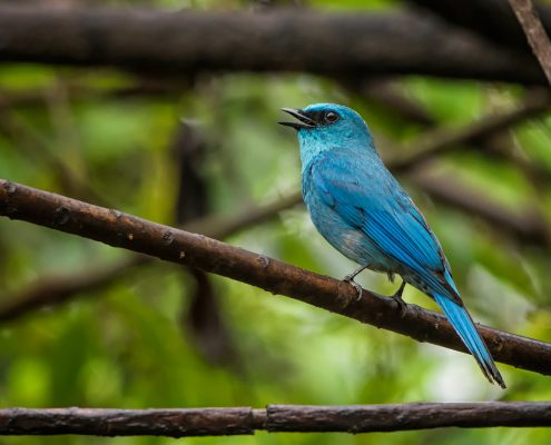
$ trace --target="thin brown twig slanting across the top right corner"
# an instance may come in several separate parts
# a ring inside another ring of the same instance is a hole
[[[509,0],[533,53],[551,85],[551,43],[531,0]]]

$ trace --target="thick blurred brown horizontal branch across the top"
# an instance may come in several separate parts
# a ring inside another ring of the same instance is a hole
[[[0,41],[1,61],[188,75],[307,71],[544,82],[528,56],[414,13],[289,10],[252,14],[2,6]]]

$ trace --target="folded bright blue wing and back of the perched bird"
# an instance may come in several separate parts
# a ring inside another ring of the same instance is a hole
[[[376,159],[338,149],[312,166],[322,200],[433,291],[461,301],[440,243],[410,196]]]

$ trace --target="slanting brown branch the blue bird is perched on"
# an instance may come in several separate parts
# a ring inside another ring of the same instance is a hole
[[[0,215],[95,239],[114,247],[236,279],[362,323],[464,352],[440,314],[409,305],[403,317],[394,300],[364,290],[357,301],[348,284],[227,244],[116,210],[0,180]],[[551,344],[480,327],[494,358],[551,375]]]

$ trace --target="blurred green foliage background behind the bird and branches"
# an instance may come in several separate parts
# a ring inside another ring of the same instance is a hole
[[[116,2],[109,2],[116,3]],[[119,2],[121,3],[121,2]],[[131,4],[131,2],[126,2]],[[246,8],[238,2],[157,1],[157,7]],[[384,9],[394,2],[315,1],[321,9]],[[184,73],[185,75],[185,73]],[[232,215],[299,187],[295,135],[276,125],[281,107],[342,102],[368,121],[384,156],[401,155],[423,129],[380,103],[353,96],[332,80],[306,75],[204,75],[191,89],[165,97],[120,98],[135,85],[110,70],[3,65],[0,97],[36,91],[42,99],[14,105],[18,131],[0,131],[0,177],[67,194],[51,160],[110,207],[174,224],[176,170],[170,144],[181,119],[198,122],[208,141],[205,176],[213,214]],[[168,81],[168,80],[167,80]],[[76,87],[75,87],[76,86]],[[75,89],[72,88],[75,87]],[[519,103],[518,87],[426,78],[396,88],[445,128]],[[73,93],[82,90],[83,93]],[[0,117],[1,118],[1,117]],[[3,119],[3,118],[1,118]],[[510,135],[524,156],[551,169],[549,119]],[[539,202],[519,169],[469,149],[434,168],[512,211]],[[499,227],[436,205],[407,181],[439,235],[457,285],[476,320],[551,342],[549,250],[522,246]],[[519,210],[520,209],[520,210]],[[549,212],[549,211],[548,211]],[[304,208],[228,239],[301,267],[342,277],[355,265],[315,231]],[[0,220],[0,303],[35,279],[94,270],[127,253],[23,222]],[[239,366],[209,364],[181,324],[193,280],[160,261],[69,304],[0,326],[0,405],[26,407],[195,407],[266,404],[382,404],[435,400],[545,400],[549,377],[500,365],[509,388],[491,386],[472,358],[362,326],[246,285],[211,277],[237,349]],[[365,273],[367,288],[392,293],[384,276]],[[433,308],[407,288],[409,301]],[[470,444],[545,443],[545,429],[439,429],[368,434],[278,434],[189,438],[189,444]],[[4,444],[164,444],[168,438],[11,437]]]

